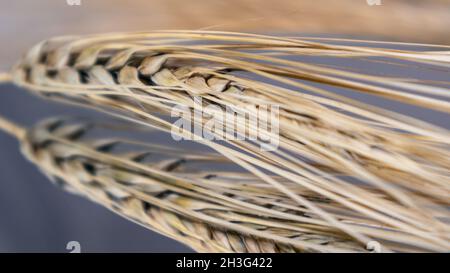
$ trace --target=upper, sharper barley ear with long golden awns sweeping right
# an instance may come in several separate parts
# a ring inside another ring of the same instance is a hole
[[[168,115],[177,105],[192,112],[196,98],[219,108],[277,105],[278,135],[240,121],[234,124],[279,137],[273,152],[259,150],[259,143],[233,139],[226,139],[226,145],[198,141],[272,187],[292,202],[290,206],[310,211],[320,225],[349,243],[364,247],[379,238],[395,251],[410,246],[448,250],[448,130],[333,90],[448,113],[449,83],[363,73],[305,59],[382,62],[408,71],[445,69],[449,55],[444,50],[388,47],[405,44],[367,43],[190,31],[62,37],[30,50],[11,78],[45,97],[89,105],[165,131],[171,123],[156,113]],[[218,111],[208,111],[205,114],[219,119]],[[304,190],[347,211],[336,214],[335,206],[311,202],[297,192]],[[346,220],[348,215],[355,219]]]

